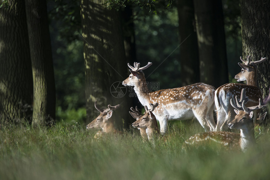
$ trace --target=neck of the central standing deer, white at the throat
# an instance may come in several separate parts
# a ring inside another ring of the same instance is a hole
[[[145,79],[140,79],[138,84],[134,86],[134,91],[137,94],[137,97],[142,105],[149,105],[150,97],[149,97],[149,89],[147,87],[147,83]]]

